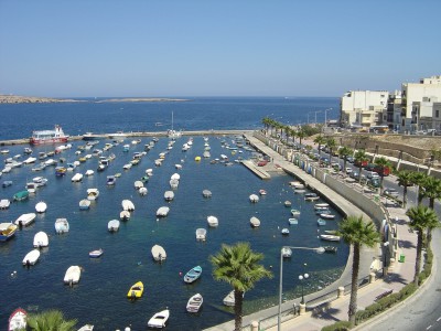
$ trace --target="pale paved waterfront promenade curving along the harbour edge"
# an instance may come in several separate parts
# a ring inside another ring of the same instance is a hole
[[[345,213],[346,215],[363,215],[365,220],[369,217],[361,211],[356,205],[352,204],[337,192],[334,192],[326,185],[322,184],[319,180],[302,171],[300,168],[293,163],[287,161],[281,154],[266,146],[263,142],[252,137],[251,135],[246,135],[246,138],[250,141],[262,153],[269,156],[272,163],[267,166],[270,167],[281,167],[286,172],[292,173],[306,185],[314,188],[314,190],[321,192],[329,201],[332,201],[335,205]],[[276,168],[275,168],[276,169]],[[268,170],[267,170],[268,171]],[[385,291],[392,290],[394,292],[399,291],[404,286],[411,282],[413,279],[413,269],[416,260],[416,245],[417,235],[409,231],[408,217],[406,216],[406,211],[401,207],[397,207],[391,203],[381,197],[381,202],[389,213],[390,220],[394,221],[394,226],[396,227],[396,233],[398,234],[398,246],[399,255],[405,256],[404,263],[391,263],[387,276],[376,279],[373,282],[366,282],[358,290],[358,310],[375,302],[377,296],[384,293]],[[348,290],[348,285],[351,284],[352,275],[352,252],[348,257],[346,268],[344,269],[341,278],[324,288],[321,291],[308,295],[304,297],[306,302],[306,313],[299,316],[293,313],[294,305],[299,307],[300,298],[290,300],[282,303],[282,323],[281,330],[290,331],[312,331],[321,330],[323,327],[333,324],[336,321],[346,320],[347,310],[349,305],[351,291]],[[373,275],[370,275],[373,274]],[[381,247],[378,245],[375,248],[362,247],[361,252],[361,266],[359,266],[359,277],[370,277],[380,276],[383,274],[383,256]],[[337,298],[337,289],[344,287],[344,296]],[[278,288],[275,288],[275,292],[278,292]],[[331,296],[329,295],[331,293]],[[387,313],[387,312],[386,312]],[[251,323],[258,322],[259,328],[256,330],[278,330],[278,306],[255,312],[249,316],[245,316],[243,319],[244,330],[251,330]],[[365,325],[359,325],[356,330],[368,330],[368,323]],[[209,331],[214,330],[234,330],[234,320],[226,323],[215,325],[213,328],[206,329]]]

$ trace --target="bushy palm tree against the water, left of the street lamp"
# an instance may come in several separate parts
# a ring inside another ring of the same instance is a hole
[[[263,254],[252,252],[249,243],[237,243],[235,246],[223,244],[217,255],[209,256],[214,279],[234,288],[235,331],[241,330],[244,293],[260,279],[272,278],[272,273],[259,264],[262,258]]]

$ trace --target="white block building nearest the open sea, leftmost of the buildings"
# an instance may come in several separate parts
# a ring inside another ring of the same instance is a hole
[[[383,124],[387,110],[387,90],[349,90],[341,98],[341,124],[369,128]]]

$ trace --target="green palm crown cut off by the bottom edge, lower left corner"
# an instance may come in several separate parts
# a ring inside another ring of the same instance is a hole
[[[32,331],[74,331],[76,320],[65,320],[60,310],[47,310],[28,317],[28,327]]]

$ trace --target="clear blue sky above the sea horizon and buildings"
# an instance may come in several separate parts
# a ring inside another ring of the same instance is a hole
[[[335,96],[441,74],[441,1],[0,0],[0,94]]]

